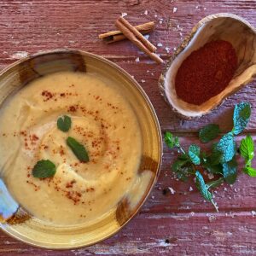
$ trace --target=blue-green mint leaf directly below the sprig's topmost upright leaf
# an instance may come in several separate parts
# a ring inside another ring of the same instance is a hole
[[[236,143],[232,132],[225,134],[213,148],[215,154],[219,154],[220,163],[232,160],[236,154]]]

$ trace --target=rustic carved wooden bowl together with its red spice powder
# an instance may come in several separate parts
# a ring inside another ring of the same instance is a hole
[[[183,118],[201,117],[250,82],[255,63],[256,29],[237,15],[209,15],[166,64],[160,93]]]

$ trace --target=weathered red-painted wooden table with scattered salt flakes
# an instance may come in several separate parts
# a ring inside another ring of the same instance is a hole
[[[256,1],[170,0],[2,0],[0,2],[0,68],[45,49],[84,49],[102,55],[133,75],[146,90],[158,114],[162,131],[177,132],[182,143],[195,141],[196,131],[208,122],[223,132],[231,128],[236,102],[249,101],[253,118],[245,133],[256,131],[255,81],[206,117],[178,119],[160,96],[157,81],[162,67],[148,59],[130,42],[105,45],[97,38],[114,29],[113,21],[127,13],[132,24],[154,20],[149,37],[167,60],[192,26],[206,15],[230,12],[256,26]],[[237,35],[239,36],[239,35]],[[139,56],[139,62],[135,61]],[[160,177],[136,218],[116,236],[95,246],[70,251],[30,247],[0,232],[1,255],[253,255],[256,253],[256,184],[240,172],[237,183],[216,190],[220,212],[201,199],[194,183],[172,179],[174,155],[165,147]],[[256,162],[254,162],[256,166]],[[189,187],[194,190],[189,191]],[[175,194],[169,191],[172,188]]]

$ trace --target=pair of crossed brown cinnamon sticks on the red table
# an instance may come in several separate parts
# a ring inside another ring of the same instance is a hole
[[[119,31],[101,34],[99,38],[102,38],[108,44],[127,38],[133,44],[136,44],[139,49],[143,50],[152,60],[157,63],[163,62],[160,56],[155,54],[156,47],[151,44],[148,39],[143,37],[143,34],[154,30],[154,22],[132,26],[124,17],[119,17],[119,19],[115,21],[115,26]]]

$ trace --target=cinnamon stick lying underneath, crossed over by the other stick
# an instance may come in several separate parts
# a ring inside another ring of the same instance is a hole
[[[147,22],[141,25],[135,26],[139,32],[143,35],[148,34],[154,31],[154,21]],[[119,30],[102,33],[99,35],[99,38],[102,39],[107,44],[112,44],[114,42],[118,42],[120,40],[124,40],[125,35]]]

